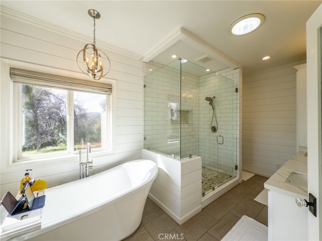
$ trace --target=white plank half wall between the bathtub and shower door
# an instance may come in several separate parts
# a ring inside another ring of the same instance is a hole
[[[142,158],[159,167],[149,193],[158,206],[179,224],[201,211],[201,157],[179,161],[142,149]]]

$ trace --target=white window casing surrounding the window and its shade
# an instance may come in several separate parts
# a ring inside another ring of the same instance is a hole
[[[17,111],[14,106],[17,106],[17,98],[15,98],[15,91],[17,87],[15,86],[13,80],[10,77],[10,68],[22,68],[30,71],[43,72],[48,74],[62,75],[70,78],[82,78],[87,81],[94,81],[89,76],[83,73],[77,73],[68,70],[62,70],[57,68],[52,68],[48,66],[41,66],[32,63],[21,62],[17,60],[0,58],[1,60],[1,83],[0,83],[0,105],[2,110],[2,116],[0,117],[0,145],[2,146],[2,152],[0,153],[1,158],[1,172],[11,172],[21,169],[30,168],[33,166],[47,166],[54,165],[56,163],[69,163],[78,162],[79,154],[78,152],[73,153],[61,153],[57,155],[46,155],[42,157],[30,157],[30,158],[18,158],[17,152],[17,142],[21,141],[17,139],[19,133],[17,131],[17,125],[22,124],[22,118],[18,119]],[[107,145],[109,148],[107,150],[98,150],[97,152],[91,153],[91,158],[98,158],[107,155],[112,155],[116,153],[116,80],[109,78],[102,78],[104,83],[111,84],[114,91],[111,94],[107,94],[107,103],[109,111],[107,112]],[[102,82],[101,81],[101,82]],[[53,88],[55,88],[53,86]],[[77,91],[77,90],[75,90]],[[20,95],[21,96],[21,95]],[[20,102],[21,105],[21,102]],[[67,106],[68,108],[68,106]],[[20,106],[21,109],[21,106]],[[67,118],[70,122],[70,119]],[[20,123],[19,123],[20,122]],[[7,124],[7,125],[6,125]],[[70,125],[68,125],[70,126]],[[69,137],[71,138],[71,137]]]

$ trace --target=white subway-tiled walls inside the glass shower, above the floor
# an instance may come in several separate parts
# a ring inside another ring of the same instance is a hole
[[[171,124],[171,109],[180,108],[181,96],[181,108],[189,114],[189,123],[181,125],[181,158],[201,156],[204,167],[235,176],[239,162],[239,92],[235,92],[239,69],[198,77],[166,66],[149,74],[147,69],[156,65],[146,64],[143,73],[144,148],[180,158],[180,125]],[[216,133],[210,131],[212,108],[206,96],[215,96]],[[222,145],[217,144],[218,135],[223,137]]]

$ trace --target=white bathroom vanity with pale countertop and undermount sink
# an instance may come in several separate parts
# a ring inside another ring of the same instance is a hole
[[[307,198],[307,153],[299,151],[264,187],[268,189],[268,240],[307,240],[308,208],[295,198]]]

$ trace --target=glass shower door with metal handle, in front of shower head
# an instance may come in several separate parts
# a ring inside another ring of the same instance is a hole
[[[237,83],[218,73],[200,78],[200,156],[203,196],[236,176],[238,158]]]

